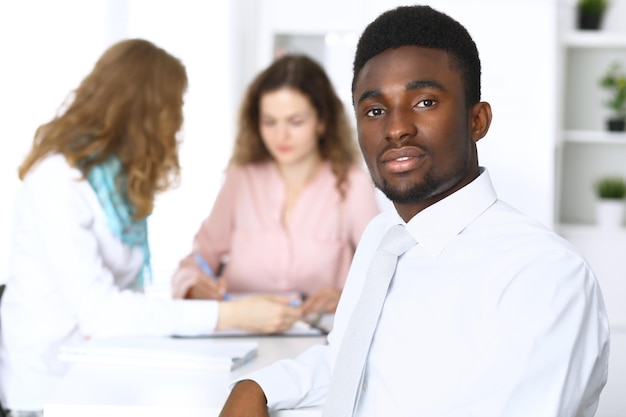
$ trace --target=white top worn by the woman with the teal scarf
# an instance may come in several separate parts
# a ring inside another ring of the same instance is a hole
[[[214,301],[133,291],[140,248],[110,231],[96,194],[60,155],[24,179],[0,303],[0,394],[11,409],[42,409],[68,369],[61,344],[123,334],[197,335],[217,323]]]

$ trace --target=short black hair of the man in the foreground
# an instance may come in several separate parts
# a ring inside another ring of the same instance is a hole
[[[446,51],[461,73],[468,107],[480,101],[480,58],[469,32],[430,6],[400,6],[378,16],[363,31],[354,57],[352,91],[363,66],[391,48],[420,46]]]

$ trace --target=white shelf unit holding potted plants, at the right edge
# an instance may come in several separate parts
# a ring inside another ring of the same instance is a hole
[[[563,0],[564,2],[567,0]],[[608,66],[618,61],[626,68],[626,0],[614,0],[608,25],[598,31],[573,28],[566,14],[574,1],[561,6],[558,44],[560,68],[559,113],[555,154],[555,229],[576,246],[593,268],[609,313],[611,328],[626,332],[626,219],[622,227],[605,229],[596,225],[594,182],[604,175],[626,177],[626,132],[610,132],[604,105],[608,92],[600,79]],[[565,17],[565,18],[563,18]],[[570,26],[568,26],[570,25]],[[613,372],[626,375],[622,363]],[[615,381],[615,378],[613,378]],[[612,382],[615,387],[615,382]],[[621,396],[608,394],[608,402],[597,414],[615,417]],[[605,395],[606,398],[606,395]]]

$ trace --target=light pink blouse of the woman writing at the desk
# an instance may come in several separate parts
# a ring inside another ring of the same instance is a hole
[[[343,288],[352,256],[367,223],[379,212],[369,175],[354,167],[342,199],[329,163],[300,194],[288,225],[281,221],[285,186],[273,162],[232,167],[193,248],[222,275],[229,292]],[[192,255],[180,268],[196,267]],[[197,268],[197,267],[196,267]],[[184,284],[183,284],[184,285]],[[184,295],[188,288],[174,292]]]

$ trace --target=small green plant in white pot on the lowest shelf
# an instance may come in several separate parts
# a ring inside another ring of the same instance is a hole
[[[621,226],[624,219],[626,180],[619,175],[599,178],[595,183],[595,191],[598,197],[596,202],[598,226],[604,228]]]

